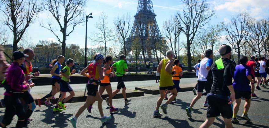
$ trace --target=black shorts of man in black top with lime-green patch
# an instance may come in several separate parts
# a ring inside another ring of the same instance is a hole
[[[217,117],[220,114],[225,119],[233,117],[233,106],[228,104],[228,100],[218,98],[214,94],[208,94],[206,99],[209,104],[206,117]]]

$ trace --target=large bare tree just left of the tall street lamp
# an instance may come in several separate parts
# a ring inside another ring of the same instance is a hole
[[[48,27],[45,27],[42,23],[40,23],[40,26],[50,30],[57,37],[57,40],[62,44],[63,56],[65,56],[67,37],[74,31],[77,25],[84,22],[85,5],[86,0],[43,0],[43,8],[49,11],[57,21],[62,33],[62,39],[57,35],[57,28],[53,28],[52,23],[47,23]],[[63,13],[61,13],[62,10]]]

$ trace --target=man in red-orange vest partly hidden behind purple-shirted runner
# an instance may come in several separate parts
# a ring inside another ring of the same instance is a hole
[[[26,48],[24,49],[24,54],[28,55],[29,57],[25,57],[24,63],[21,65],[21,68],[24,71],[25,75],[30,75],[30,76],[39,76],[39,72],[32,73],[32,63],[31,60],[34,59],[35,52],[31,48]],[[32,83],[31,77],[29,80],[25,80],[28,82],[28,84]],[[34,84],[31,86],[34,87]],[[35,101],[33,100],[34,98],[31,96],[30,91],[31,87],[28,88],[27,91],[24,91],[22,94],[22,98],[24,99],[24,102],[28,104],[28,109],[26,110],[26,120],[25,123],[28,121],[32,121],[33,119],[30,119],[30,116],[32,115],[33,111],[35,110]]]

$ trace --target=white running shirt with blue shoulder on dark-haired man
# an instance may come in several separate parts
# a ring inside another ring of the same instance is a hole
[[[213,59],[204,58],[198,64],[199,72],[198,72],[198,79],[199,81],[207,81],[206,77],[208,75],[209,70],[206,69],[207,66],[212,66]]]

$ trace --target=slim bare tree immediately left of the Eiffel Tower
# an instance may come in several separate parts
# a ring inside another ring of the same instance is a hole
[[[129,14],[124,14],[122,16],[117,16],[117,18],[114,19],[114,25],[116,27],[116,32],[117,34],[120,35],[120,37],[122,38],[120,42],[120,44],[123,46],[123,54],[125,56],[127,56],[127,50],[126,50],[126,38],[127,38],[127,34],[129,33],[129,31],[131,30],[131,15]]]

